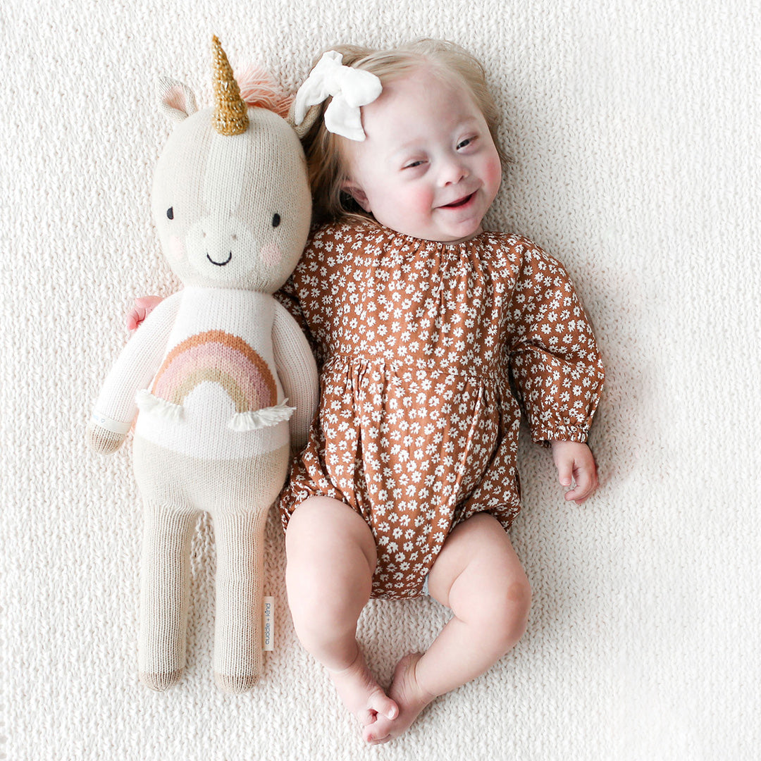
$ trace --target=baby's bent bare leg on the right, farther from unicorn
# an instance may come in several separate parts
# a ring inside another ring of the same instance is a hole
[[[505,530],[489,514],[454,528],[428,578],[431,597],[451,608],[451,620],[424,654],[396,667],[389,696],[395,721],[379,717],[365,729],[372,743],[398,737],[436,696],[475,679],[521,638],[531,591]]]

